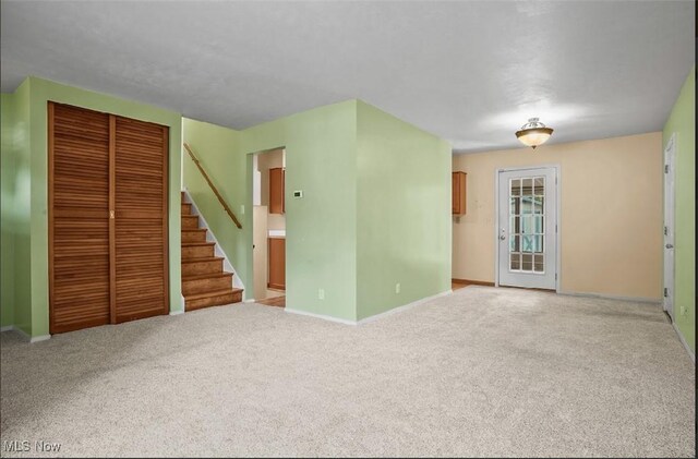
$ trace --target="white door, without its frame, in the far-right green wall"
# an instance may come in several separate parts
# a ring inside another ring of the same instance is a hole
[[[674,135],[664,148],[664,311],[674,319]]]

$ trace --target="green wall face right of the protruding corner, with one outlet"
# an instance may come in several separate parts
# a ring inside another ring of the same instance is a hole
[[[357,116],[361,319],[450,290],[452,148],[362,101]]]

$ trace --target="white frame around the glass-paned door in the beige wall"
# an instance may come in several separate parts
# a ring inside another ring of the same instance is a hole
[[[562,177],[561,177],[561,167],[557,164],[543,164],[543,165],[531,165],[531,166],[518,166],[518,167],[503,167],[496,168],[494,170],[494,227],[493,227],[493,238],[494,238],[494,287],[500,287],[500,173],[501,172],[517,172],[517,171],[526,171],[533,169],[545,169],[552,168],[555,170],[555,225],[557,231],[555,233],[555,292],[559,293],[559,286],[562,283],[562,257],[561,257],[561,234],[562,234],[562,216],[561,216],[561,189],[562,189]]]

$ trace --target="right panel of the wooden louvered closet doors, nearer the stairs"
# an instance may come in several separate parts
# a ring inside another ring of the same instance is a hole
[[[167,314],[168,129],[116,119],[116,322]]]

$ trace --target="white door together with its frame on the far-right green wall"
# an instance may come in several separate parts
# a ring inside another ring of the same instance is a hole
[[[676,133],[672,133],[666,142],[666,146],[663,149],[663,173],[662,173],[662,189],[663,189],[663,215],[662,215],[662,310],[669,314],[672,322],[674,322],[675,314],[675,301],[674,301],[674,280],[676,277],[676,252],[671,255],[672,266],[669,269],[669,278],[666,277],[666,258],[667,251],[674,250],[667,249],[666,244],[675,244],[676,237]],[[671,178],[671,180],[667,180]],[[667,195],[667,193],[670,193]],[[669,203],[667,203],[669,197]],[[667,207],[667,204],[671,206]],[[666,231],[664,231],[666,229]],[[667,239],[671,240],[667,241]],[[667,292],[665,294],[664,292]]]

